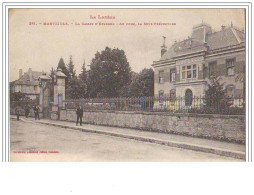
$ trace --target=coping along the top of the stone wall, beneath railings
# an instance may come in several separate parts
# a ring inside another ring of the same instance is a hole
[[[75,111],[76,109],[62,109],[62,111]],[[203,118],[226,118],[226,119],[245,119],[246,115],[223,115],[223,114],[198,114],[198,113],[169,113],[169,112],[149,112],[149,111],[120,111],[120,110],[84,110],[84,112],[102,112],[102,113],[119,113],[119,114],[142,114],[142,115],[159,115],[175,117],[203,117]]]

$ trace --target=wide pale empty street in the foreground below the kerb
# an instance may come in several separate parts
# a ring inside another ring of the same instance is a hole
[[[10,121],[10,161],[242,161],[36,122]]]

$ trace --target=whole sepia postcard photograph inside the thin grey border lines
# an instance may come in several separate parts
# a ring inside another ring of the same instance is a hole
[[[11,8],[10,162],[245,162],[244,8]]]

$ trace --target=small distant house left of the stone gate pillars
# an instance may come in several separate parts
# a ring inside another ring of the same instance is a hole
[[[11,82],[11,93],[21,92],[26,98],[35,100],[39,98],[39,77],[43,72],[32,71],[31,68],[23,74],[22,69],[19,70],[19,79]]]

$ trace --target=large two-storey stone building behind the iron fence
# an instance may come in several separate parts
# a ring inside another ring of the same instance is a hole
[[[213,32],[210,25],[194,26],[191,36],[175,42],[169,49],[164,43],[161,58],[154,61],[155,97],[200,97],[205,95],[213,75],[230,97],[243,97],[245,74],[245,33],[222,26]],[[188,106],[192,101],[185,101]]]

